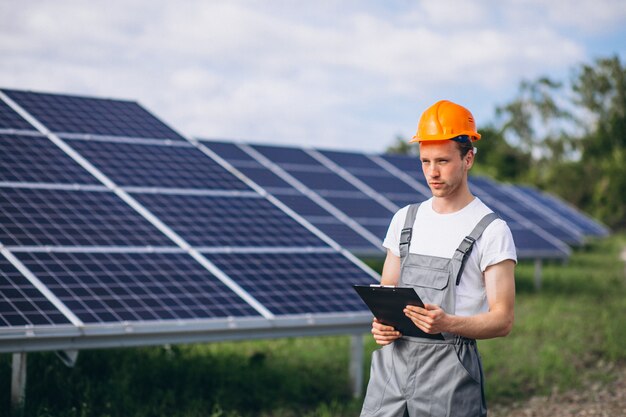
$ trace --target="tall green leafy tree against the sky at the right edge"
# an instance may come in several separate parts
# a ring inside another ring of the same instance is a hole
[[[576,67],[569,84],[523,81],[496,115],[507,142],[530,154],[529,182],[626,227],[626,68],[619,57]]]

